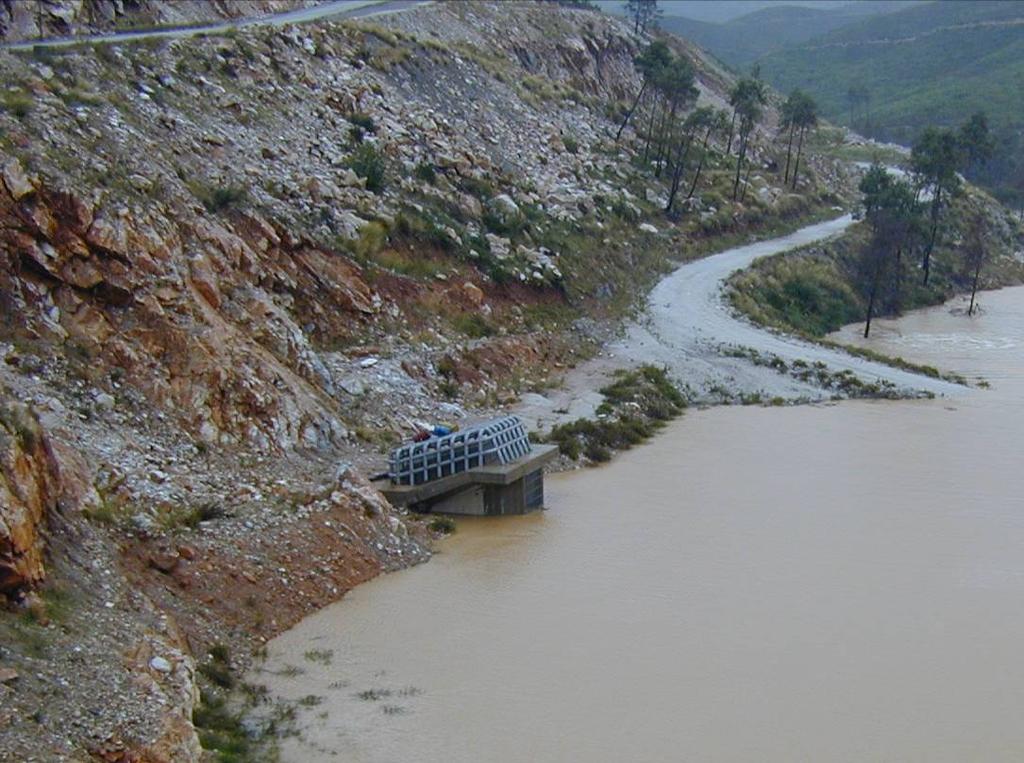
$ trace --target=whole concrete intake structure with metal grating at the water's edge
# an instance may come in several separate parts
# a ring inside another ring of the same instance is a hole
[[[544,506],[544,464],[556,446],[535,446],[516,416],[391,452],[395,506],[449,514],[524,514]]]

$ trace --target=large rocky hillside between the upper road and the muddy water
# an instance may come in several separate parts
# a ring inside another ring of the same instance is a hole
[[[674,262],[843,201],[818,158],[783,190],[772,113],[745,203],[717,155],[666,218],[612,140],[644,42],[613,18],[384,23],[0,54],[0,760],[197,760],[198,676],[427,557],[360,476],[389,443],[557,383]]]

